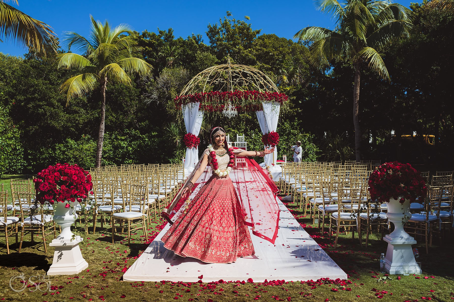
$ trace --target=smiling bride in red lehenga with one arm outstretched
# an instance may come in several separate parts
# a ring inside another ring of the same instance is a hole
[[[226,133],[221,127],[211,130],[211,144],[178,195],[163,211],[163,216],[168,219],[177,204],[181,205],[181,199],[184,200],[192,191],[194,182],[207,165],[211,166],[212,176],[190,201],[188,212],[183,212],[162,237],[164,247],[182,257],[206,263],[232,263],[237,257],[255,253],[251,235],[244,224],[246,213],[228,175],[235,155],[264,156],[272,153],[274,148],[264,151],[234,149],[225,143],[225,139]]]

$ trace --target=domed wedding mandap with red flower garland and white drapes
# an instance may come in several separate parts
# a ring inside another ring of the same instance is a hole
[[[255,111],[262,134],[277,130],[281,105],[288,101],[284,93],[260,70],[246,65],[227,64],[209,67],[198,73],[175,98],[177,108],[182,108],[185,135],[186,159],[184,168],[191,172],[198,162],[198,134],[203,113],[220,112],[228,118],[238,111]],[[265,156],[266,165],[276,164],[274,154]]]

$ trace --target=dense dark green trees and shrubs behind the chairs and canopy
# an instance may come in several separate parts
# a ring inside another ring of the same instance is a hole
[[[412,10],[410,37],[380,53],[391,81],[366,69],[361,74],[362,155],[426,164],[443,160],[448,165],[454,135],[449,85],[453,14],[424,4],[413,5]],[[315,69],[304,43],[261,34],[247,20],[233,19],[228,13],[220,23],[209,24],[209,44],[199,34],[176,38],[172,29],[138,34],[143,58],[153,71],[132,76],[131,86],[107,84],[103,164],[181,160],[186,131],[173,98],[198,72],[226,62],[227,54],[236,63],[266,72],[290,97],[277,129],[279,158],[283,154],[291,158],[289,147],[296,140],[306,150],[305,160],[354,158],[353,67],[332,60],[329,68]],[[66,106],[59,85],[69,72],[58,70],[49,58],[0,53],[0,173],[36,173],[62,161],[94,167],[101,92],[95,89]],[[232,141],[236,134],[245,134],[249,149],[262,148],[255,113],[241,113],[231,120],[218,114],[203,121],[200,152],[213,125],[224,126]],[[413,131],[417,137],[400,137]],[[439,139],[427,144],[420,134]]]

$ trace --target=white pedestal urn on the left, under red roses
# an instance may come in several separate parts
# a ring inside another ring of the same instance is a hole
[[[71,201],[55,202],[53,205],[54,221],[61,226],[61,234],[49,244],[49,246],[55,247],[55,252],[54,261],[47,272],[48,275],[73,275],[88,267],[79,248],[79,243],[84,239],[71,232],[71,225],[77,218],[74,210],[77,201],[73,203],[74,209],[65,208],[69,202]]]

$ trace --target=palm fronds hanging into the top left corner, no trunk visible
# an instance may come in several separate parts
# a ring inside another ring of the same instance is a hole
[[[19,5],[18,0],[13,2]],[[5,0],[0,0],[0,37],[15,40],[20,46],[28,47],[30,53],[40,56],[45,56],[49,49],[55,52],[59,45],[49,25],[6,4]]]

